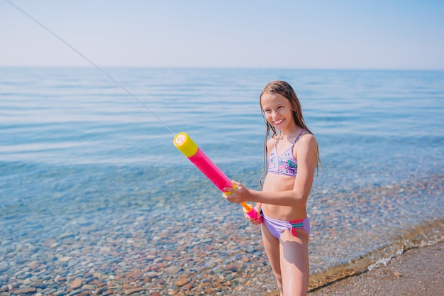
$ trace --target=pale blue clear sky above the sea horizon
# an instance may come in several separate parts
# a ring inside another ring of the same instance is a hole
[[[0,67],[90,66],[50,32],[99,67],[444,70],[443,0],[0,0]]]

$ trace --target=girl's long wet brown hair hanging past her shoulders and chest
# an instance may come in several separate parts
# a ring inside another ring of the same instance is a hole
[[[302,109],[301,109],[301,103],[299,102],[299,99],[296,95],[296,92],[294,92],[293,87],[288,83],[284,82],[282,80],[274,80],[267,85],[265,85],[264,89],[262,89],[262,92],[260,93],[259,97],[259,104],[260,104],[260,111],[262,112],[262,116],[265,121],[265,125],[267,126],[267,130],[265,131],[265,139],[264,139],[264,170],[262,172],[262,175],[260,177],[260,187],[262,188],[262,179],[267,175],[268,172],[268,165],[267,165],[267,141],[271,138],[277,138],[277,132],[276,128],[270,124],[267,119],[265,118],[264,110],[262,109],[262,104],[260,102],[262,98],[262,94],[280,94],[282,97],[285,97],[289,100],[289,102],[292,104],[293,111],[293,119],[294,123],[304,128],[306,131],[313,133],[309,130],[309,128],[306,126],[304,121],[304,116],[302,115]],[[317,148],[317,147],[316,147]],[[318,163],[316,164],[316,171],[318,170],[318,164],[321,163],[321,159],[319,158],[319,149],[317,148],[318,153]]]

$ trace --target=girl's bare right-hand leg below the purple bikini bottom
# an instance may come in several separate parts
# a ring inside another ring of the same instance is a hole
[[[287,229],[279,239],[284,295],[306,295],[309,286],[309,235],[301,229],[296,234]]]

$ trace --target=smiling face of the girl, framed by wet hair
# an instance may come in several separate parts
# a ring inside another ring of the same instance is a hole
[[[294,109],[289,99],[277,93],[263,93],[260,97],[260,105],[265,119],[279,131],[294,128]]]

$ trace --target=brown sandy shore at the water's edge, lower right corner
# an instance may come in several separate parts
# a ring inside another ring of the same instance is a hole
[[[440,295],[444,288],[443,250],[444,242],[411,248],[386,264],[319,287],[309,295]],[[267,296],[272,295],[279,294]]]

